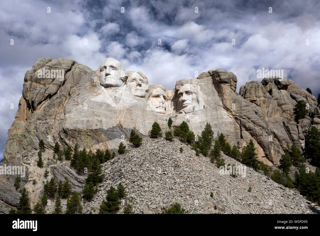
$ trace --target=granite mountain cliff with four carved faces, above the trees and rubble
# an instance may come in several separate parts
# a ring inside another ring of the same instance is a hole
[[[64,78],[39,78],[43,68],[64,70]],[[25,74],[4,160],[21,163],[16,154],[38,150],[41,139],[49,149],[59,142],[63,148],[77,143],[116,151],[120,142],[128,144],[132,129],[146,137],[155,121],[167,127],[171,117],[173,125],[186,121],[196,135],[209,122],[215,135],[223,133],[240,149],[252,139],[259,161],[279,166],[287,144],[302,149],[310,126],[319,128],[316,97],[292,80],[247,82],[239,94],[236,85],[235,74],[217,69],[195,79],[177,78],[175,88],[166,90],[149,85],[140,71],[125,71],[114,58],[94,71],[72,59],[40,58]],[[300,100],[309,104],[309,116],[296,123],[293,108]]]

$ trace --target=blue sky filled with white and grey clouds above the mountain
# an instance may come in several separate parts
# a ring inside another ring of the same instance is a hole
[[[24,74],[41,57],[72,58],[92,70],[114,57],[167,90],[196,71],[222,68],[236,74],[238,92],[247,81],[261,81],[258,69],[283,69],[285,78],[316,97],[320,92],[317,0],[12,0],[0,6],[0,159]]]

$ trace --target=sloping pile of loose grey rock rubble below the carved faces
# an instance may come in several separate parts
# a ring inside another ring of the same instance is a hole
[[[127,191],[128,200],[122,200],[122,205],[131,204],[135,213],[161,213],[176,202],[191,214],[313,214],[319,209],[298,191],[251,168],[246,168],[245,177],[220,174],[209,157],[196,156],[190,146],[176,138],[173,142],[146,138],[139,148],[127,149],[102,165],[106,178],[93,200],[84,204],[84,213],[97,214],[106,190],[119,182]],[[226,164],[242,165],[221,155]]]

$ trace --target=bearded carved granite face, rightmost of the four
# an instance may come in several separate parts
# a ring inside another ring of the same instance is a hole
[[[180,87],[178,91],[179,103],[181,104],[181,109],[185,113],[191,113],[193,111],[193,106],[198,105],[197,95],[194,92],[191,84],[185,84]]]

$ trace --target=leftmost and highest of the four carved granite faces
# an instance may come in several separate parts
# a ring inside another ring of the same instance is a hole
[[[124,81],[120,78],[123,73],[124,67],[118,60],[107,58],[99,67],[100,85],[105,88],[123,86]]]

